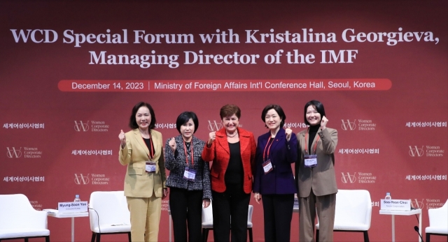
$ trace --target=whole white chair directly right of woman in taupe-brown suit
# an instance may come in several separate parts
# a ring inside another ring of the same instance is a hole
[[[367,190],[338,190],[336,194],[335,232],[362,232],[369,242],[372,200]],[[319,223],[316,225],[316,241],[319,238]]]

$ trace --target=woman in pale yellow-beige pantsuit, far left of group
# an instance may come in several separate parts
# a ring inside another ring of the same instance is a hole
[[[162,199],[165,187],[165,160],[162,134],[155,128],[155,114],[148,103],[137,103],[132,109],[127,133],[121,130],[120,163],[127,165],[125,196],[131,213],[133,242],[158,241]]]

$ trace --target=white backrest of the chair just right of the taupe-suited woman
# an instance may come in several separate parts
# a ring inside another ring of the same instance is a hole
[[[338,190],[336,194],[335,225],[356,222],[370,228],[372,200],[367,190]]]

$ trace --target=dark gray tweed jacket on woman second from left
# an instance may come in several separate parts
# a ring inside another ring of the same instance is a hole
[[[182,135],[178,135],[174,137],[174,139],[176,140],[176,157],[174,156],[171,147],[168,145],[169,139],[167,139],[165,144],[165,167],[170,171],[167,179],[167,187],[183,188],[186,190],[202,190],[202,198],[211,199],[210,167],[209,163],[204,162],[201,157],[205,142],[193,136],[191,145],[193,145],[193,157],[195,160],[192,166],[191,153],[188,153],[188,168],[195,169],[196,176],[195,181],[188,181],[187,179],[183,179],[183,173],[185,172],[187,163]]]

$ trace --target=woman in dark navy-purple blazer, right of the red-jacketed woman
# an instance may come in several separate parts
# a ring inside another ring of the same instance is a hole
[[[297,137],[290,128],[283,130],[286,115],[279,105],[267,105],[261,119],[269,132],[258,137],[253,198],[258,203],[262,199],[265,241],[290,241],[297,193],[291,164],[297,160]]]

